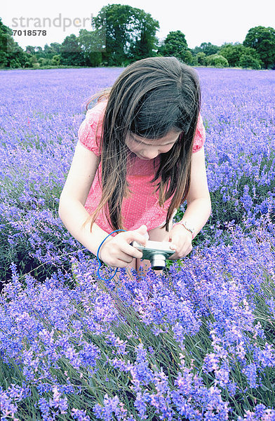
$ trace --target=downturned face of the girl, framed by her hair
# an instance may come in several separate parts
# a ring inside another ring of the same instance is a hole
[[[165,154],[170,151],[175,142],[177,142],[179,135],[180,132],[170,131],[163,138],[148,139],[128,132],[125,142],[130,151],[140,159],[154,159],[159,154]]]

